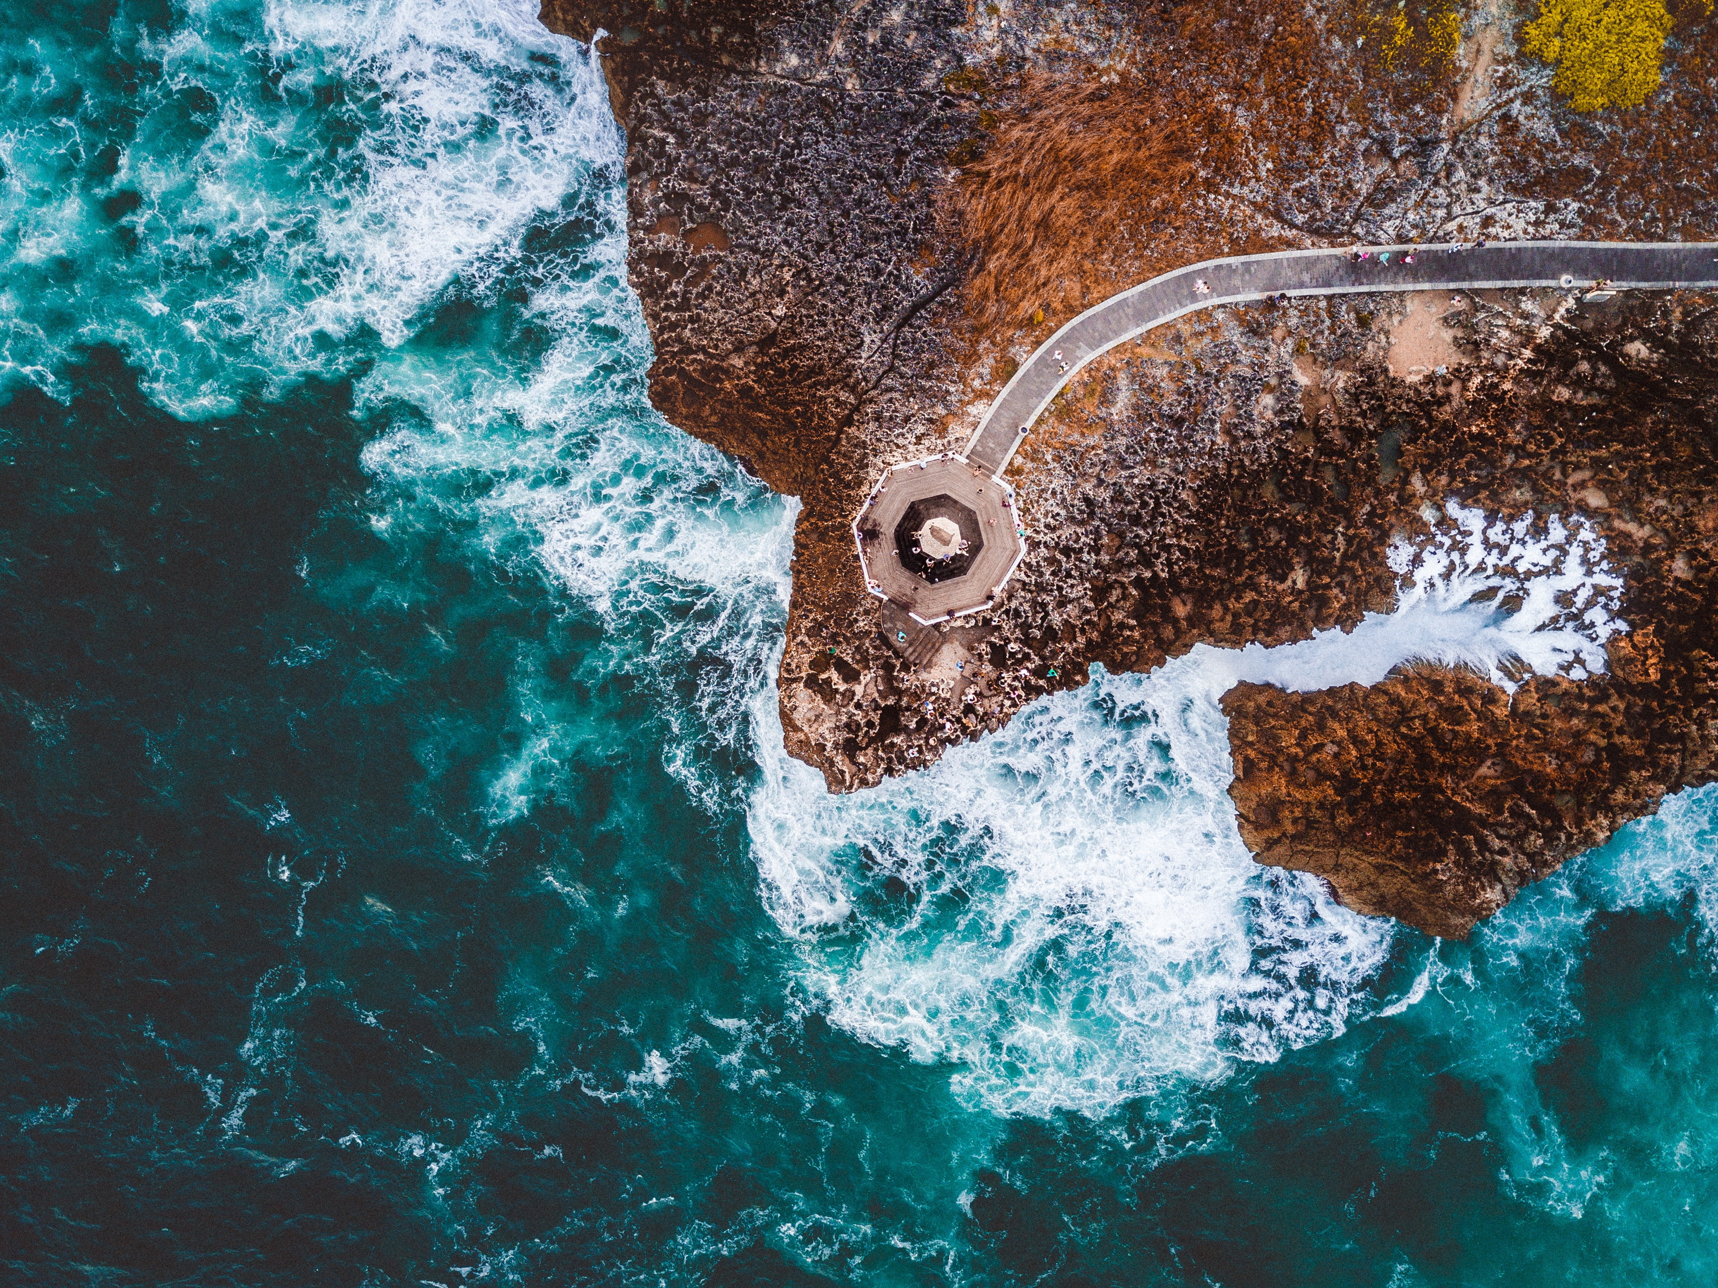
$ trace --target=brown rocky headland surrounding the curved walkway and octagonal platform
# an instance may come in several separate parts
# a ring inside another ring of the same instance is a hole
[[[1715,299],[1369,295],[1153,331],[1017,453],[1029,553],[917,665],[880,632],[849,531],[886,465],[959,448],[1012,364],[1154,270],[1361,239],[1713,235],[1706,144],[1660,143],[1713,112],[1709,86],[1672,69],[1654,106],[1594,125],[1488,5],[1448,69],[1414,76],[1364,53],[1364,5],[550,0],[543,19],[610,33],[653,402],[802,500],[782,725],[832,790],[1094,665],[1352,629],[1397,599],[1392,543],[1452,500],[1594,524],[1629,632],[1603,675],[1514,694],[1433,668],[1230,690],[1259,860],[1460,936],[1715,776]],[[1106,131],[1125,137],[1096,148]],[[1630,148],[1656,170],[1594,180]],[[1043,227],[1019,234],[1020,210]],[[1034,240],[1065,254],[1053,278],[1022,259]]]

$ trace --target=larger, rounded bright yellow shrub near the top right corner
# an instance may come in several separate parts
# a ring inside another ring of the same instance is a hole
[[[1541,0],[1522,48],[1557,65],[1551,88],[1575,112],[1639,106],[1658,89],[1670,34],[1663,0]]]

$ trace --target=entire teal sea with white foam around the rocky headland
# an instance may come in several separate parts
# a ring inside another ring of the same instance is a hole
[[[1247,860],[1192,665],[830,799],[584,50],[7,19],[7,1281],[1718,1279],[1718,795],[1469,945]]]

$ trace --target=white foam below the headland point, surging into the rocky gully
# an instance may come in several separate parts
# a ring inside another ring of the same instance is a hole
[[[1457,505],[1428,520],[1429,541],[1392,553],[1397,610],[1349,634],[1100,673],[852,797],[768,740],[749,811],[765,898],[830,1018],[955,1063],[955,1085],[993,1109],[1098,1115],[1423,998],[1424,972],[1398,1001],[1373,996],[1390,922],[1252,862],[1218,699],[1242,680],[1376,683],[1416,659],[1505,687],[1522,668],[1603,668],[1620,579],[1589,526],[1486,524]],[[756,723],[771,716],[759,699]]]

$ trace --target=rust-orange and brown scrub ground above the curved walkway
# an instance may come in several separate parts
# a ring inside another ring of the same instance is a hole
[[[1711,237],[1709,0],[1541,0],[1534,39],[1541,50],[1557,39],[1562,86],[1581,74],[1605,88],[1615,77],[1593,33],[1625,41],[1582,15],[1665,3],[1680,70],[1627,131],[1586,110],[1546,113],[1507,53],[1493,62],[1495,24],[1464,55],[1465,0],[1127,5],[1115,21],[1134,24],[1129,43],[1103,64],[1062,52],[960,69],[943,88],[972,105],[978,132],[950,156],[959,177],[945,215],[974,266],[964,285],[974,338],[1060,325],[1194,258],[1340,242],[1380,218],[1428,240],[1450,235],[1457,211],[1436,197],[1452,163],[1507,165],[1544,218],[1579,211],[1587,237]],[[1651,84],[1665,45],[1654,24]],[[1627,100],[1613,86],[1606,101]],[[1488,218],[1502,232],[1517,204],[1488,208],[1464,234]]]

